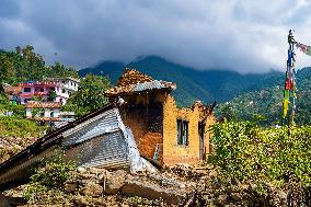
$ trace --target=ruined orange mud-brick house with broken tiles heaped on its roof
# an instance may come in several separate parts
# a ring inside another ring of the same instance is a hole
[[[178,108],[170,94],[175,89],[173,82],[126,69],[117,87],[106,91],[111,103],[119,105],[140,154],[160,165],[192,164],[209,153],[214,106],[196,101],[191,107]]]

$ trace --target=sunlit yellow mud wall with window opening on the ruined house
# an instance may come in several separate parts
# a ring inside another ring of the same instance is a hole
[[[163,163],[173,165],[176,163],[193,164],[199,161],[199,136],[198,123],[201,122],[199,104],[192,108],[176,108],[175,101],[171,95],[166,96],[163,105]],[[176,119],[188,122],[188,145],[177,145]],[[214,123],[214,116],[206,118],[204,134],[206,153],[209,152],[209,125]]]

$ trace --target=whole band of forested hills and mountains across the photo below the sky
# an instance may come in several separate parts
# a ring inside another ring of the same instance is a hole
[[[158,56],[139,57],[125,65],[119,61],[103,61],[82,69],[87,73],[106,76],[116,84],[124,68],[136,68],[158,80],[177,83],[174,96],[180,106],[188,106],[195,100],[205,103],[217,101],[217,115],[224,114],[235,119],[252,119],[254,115],[266,117],[264,124],[280,124],[283,85],[285,74],[270,71],[263,74],[241,74],[230,70],[196,70],[170,62]],[[16,47],[14,51],[0,50],[0,82],[16,84],[22,81],[42,80],[45,77],[78,77],[72,68],[59,62],[47,66],[32,46]],[[297,72],[297,124],[311,124],[311,68]],[[227,103],[226,103],[227,102]]]

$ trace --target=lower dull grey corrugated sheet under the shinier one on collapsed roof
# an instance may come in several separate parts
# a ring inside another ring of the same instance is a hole
[[[128,148],[120,130],[78,145],[67,156],[80,166],[129,168]]]

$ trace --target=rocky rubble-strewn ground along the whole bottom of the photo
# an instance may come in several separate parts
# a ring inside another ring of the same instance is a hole
[[[212,168],[184,164],[137,174],[79,168],[64,192],[39,193],[27,203],[22,198],[25,187],[4,192],[7,202],[12,206],[308,206],[300,203],[300,195],[290,194],[295,193],[292,188],[281,191],[268,183],[260,186],[237,180],[222,182]],[[5,204],[3,200],[2,196]]]

